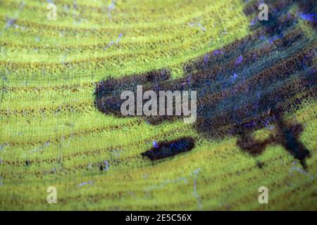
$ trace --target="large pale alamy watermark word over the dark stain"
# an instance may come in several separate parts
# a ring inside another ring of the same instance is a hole
[[[197,119],[197,91],[182,91],[182,93],[180,91],[159,91],[158,100],[155,91],[149,90],[143,94],[142,85],[137,85],[137,96],[132,91],[123,91],[120,98],[126,99],[120,107],[122,115],[135,115],[135,111],[136,115],[173,115],[173,111],[175,111],[175,115],[185,116],[185,123],[193,123]],[[144,105],[143,100],[147,100]],[[175,108],[173,108],[173,102]]]

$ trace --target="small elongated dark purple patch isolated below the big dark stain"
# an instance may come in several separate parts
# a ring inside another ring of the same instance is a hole
[[[179,153],[185,153],[194,148],[194,139],[187,137],[177,139],[175,141],[162,141],[159,142],[158,147],[152,147],[150,150],[142,153],[150,160],[161,160],[168,158]]]

